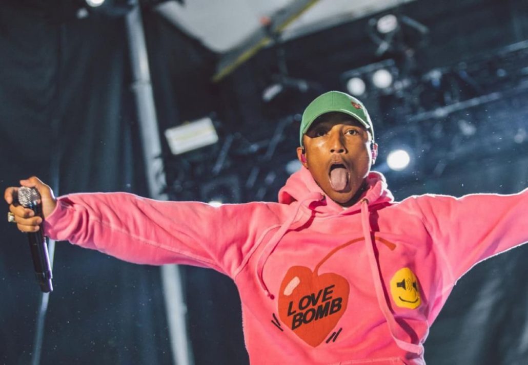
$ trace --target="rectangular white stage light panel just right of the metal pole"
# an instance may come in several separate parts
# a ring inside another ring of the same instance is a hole
[[[165,130],[165,138],[174,155],[213,145],[218,135],[211,118],[202,118]]]

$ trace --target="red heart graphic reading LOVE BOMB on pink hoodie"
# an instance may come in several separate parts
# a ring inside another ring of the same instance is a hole
[[[280,284],[280,319],[300,339],[316,347],[345,312],[349,290],[341,275],[318,275],[317,269],[290,267]]]

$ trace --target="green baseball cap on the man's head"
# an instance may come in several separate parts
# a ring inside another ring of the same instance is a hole
[[[303,120],[300,122],[300,146],[303,146],[303,136],[310,128],[317,117],[324,113],[338,111],[348,114],[357,119],[372,135],[374,140],[374,127],[369,113],[366,111],[363,103],[351,95],[341,91],[328,91],[319,95],[308,104],[303,113]]]

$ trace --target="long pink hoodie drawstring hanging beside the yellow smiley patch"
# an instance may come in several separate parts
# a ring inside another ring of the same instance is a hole
[[[397,331],[395,330],[398,328],[399,324],[396,322],[394,315],[389,309],[389,304],[385,299],[385,292],[382,286],[383,280],[378,267],[378,260],[376,260],[376,256],[374,254],[374,244],[372,242],[369,219],[369,200],[367,199],[361,200],[361,226],[363,228],[363,236],[365,237],[365,245],[367,254],[369,256],[370,270],[372,273],[372,279],[374,281],[374,289],[376,291],[376,296],[378,297],[378,305],[380,306],[380,309],[383,312],[387,323],[389,324],[389,330],[391,332],[392,338],[401,349],[421,355],[423,353],[422,344],[414,344],[400,340],[398,337],[396,337]]]

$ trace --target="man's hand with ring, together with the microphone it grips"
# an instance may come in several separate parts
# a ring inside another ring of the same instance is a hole
[[[21,232],[28,233],[31,256],[37,281],[43,292],[51,292],[51,268],[42,233],[43,218],[49,216],[56,206],[53,191],[36,177],[20,181],[22,187],[10,187],[5,190],[4,199],[10,204],[8,220],[16,223]]]

